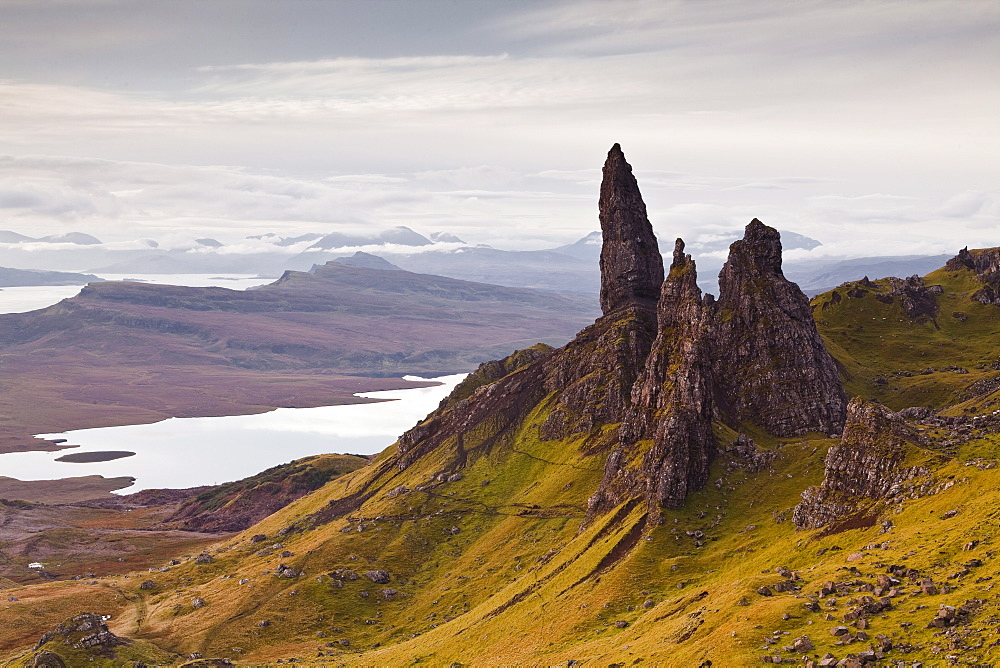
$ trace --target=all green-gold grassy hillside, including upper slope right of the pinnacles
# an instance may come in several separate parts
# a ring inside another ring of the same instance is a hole
[[[814,300],[850,394],[946,409],[913,421],[924,441],[903,465],[924,473],[824,528],[796,530],[792,510],[840,440],[744,426],[764,453],[748,458],[721,424],[709,484],[662,523],[641,499],[589,516],[618,425],[545,440],[556,388],[513,423],[438,434],[406,464],[391,447],[176,564],[11,587],[3,658],[20,665],[40,630],[89,611],[174,663],[754,666],[870,652],[876,665],[991,665],[1000,434],[972,415],[995,409],[1000,309],[969,299],[974,281],[931,274],[940,293],[910,295],[916,311],[890,281]],[[438,417],[500,401],[498,388],[516,399],[533,368],[484,369]]]

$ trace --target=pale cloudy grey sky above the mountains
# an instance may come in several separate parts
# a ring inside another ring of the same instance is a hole
[[[665,238],[954,252],[997,109],[994,0],[0,0],[0,229],[547,248],[620,142]]]

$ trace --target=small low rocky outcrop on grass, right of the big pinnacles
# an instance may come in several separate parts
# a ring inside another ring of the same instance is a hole
[[[906,481],[929,473],[903,466],[919,443],[917,432],[882,404],[851,400],[840,444],[827,453],[822,484],[806,489],[792,513],[795,526],[822,527],[899,494]]]

